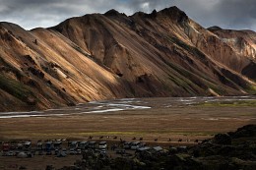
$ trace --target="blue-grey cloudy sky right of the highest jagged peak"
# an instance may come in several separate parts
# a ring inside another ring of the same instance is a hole
[[[174,0],[173,5],[204,27],[256,30],[255,0]]]

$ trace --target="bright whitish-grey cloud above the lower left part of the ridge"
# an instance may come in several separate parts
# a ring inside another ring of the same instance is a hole
[[[0,0],[0,21],[24,28],[46,28],[71,17],[103,12],[118,3],[118,0]]]

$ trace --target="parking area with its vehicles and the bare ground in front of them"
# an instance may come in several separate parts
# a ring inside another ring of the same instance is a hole
[[[108,157],[133,156],[145,142],[120,141],[10,141],[1,142],[0,169],[45,169],[47,165],[56,168],[71,166],[83,157],[83,151],[93,150],[95,154]]]

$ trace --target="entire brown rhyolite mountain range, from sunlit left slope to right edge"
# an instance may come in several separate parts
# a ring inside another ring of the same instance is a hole
[[[123,97],[256,91],[256,33],[203,28],[177,7],[26,30],[0,23],[0,111]]]

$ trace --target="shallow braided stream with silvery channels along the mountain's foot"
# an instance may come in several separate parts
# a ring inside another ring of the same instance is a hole
[[[177,107],[188,106],[207,102],[234,102],[256,100],[256,96],[225,96],[225,97],[165,97],[165,98],[123,98],[115,100],[92,101],[80,103],[73,107],[48,109],[31,112],[0,112],[0,119],[28,118],[28,117],[52,117],[83,114],[102,114],[120,112],[123,110],[141,110],[154,107]],[[156,104],[158,103],[158,104]]]

